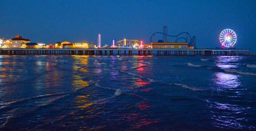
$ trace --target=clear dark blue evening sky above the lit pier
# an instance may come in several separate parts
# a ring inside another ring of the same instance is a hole
[[[0,3],[0,37],[32,42],[111,43],[113,38],[150,42],[154,32],[189,32],[197,47],[220,46],[224,29],[237,33],[236,47],[256,52],[256,1],[12,1]]]

